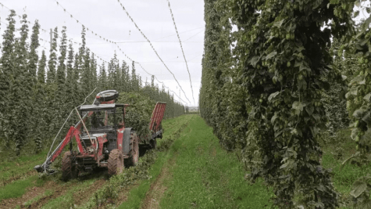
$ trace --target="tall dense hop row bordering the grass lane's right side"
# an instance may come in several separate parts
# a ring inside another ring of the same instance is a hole
[[[338,206],[316,138],[328,81],[342,80],[327,48],[352,31],[352,8],[347,0],[205,3],[201,116],[227,148],[242,148],[251,179],[273,186],[279,208]]]

